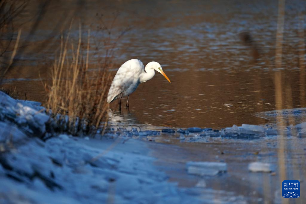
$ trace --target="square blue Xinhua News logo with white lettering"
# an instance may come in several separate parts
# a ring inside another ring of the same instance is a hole
[[[282,183],[283,198],[299,198],[300,197],[300,181],[284,180]]]

